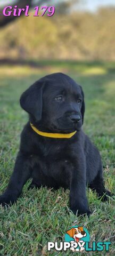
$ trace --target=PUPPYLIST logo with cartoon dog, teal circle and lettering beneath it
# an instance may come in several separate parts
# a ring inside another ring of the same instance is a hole
[[[111,242],[92,242],[89,245],[90,235],[86,228],[82,226],[72,226],[64,235],[64,242],[48,242],[47,250],[51,251],[72,251],[72,252],[90,252],[90,251],[109,251]]]

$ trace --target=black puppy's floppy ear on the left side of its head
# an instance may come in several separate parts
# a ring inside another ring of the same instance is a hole
[[[37,81],[23,92],[20,98],[21,107],[34,116],[36,121],[42,119],[42,94],[43,83]]]

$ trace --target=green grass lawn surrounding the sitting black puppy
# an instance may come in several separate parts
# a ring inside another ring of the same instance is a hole
[[[83,86],[86,113],[84,131],[100,150],[106,188],[114,192],[114,63],[44,61],[44,68],[0,68],[0,194],[7,186],[18,153],[20,133],[27,114],[20,108],[20,94],[48,73],[63,71]],[[63,241],[72,225],[86,227],[91,241],[111,241],[108,255],[115,255],[114,200],[100,202],[87,190],[91,217],[76,217],[69,211],[69,191],[23,188],[17,203],[9,209],[0,206],[0,255],[72,255],[69,251],[47,252],[48,241]],[[88,252],[106,255],[106,252]]]

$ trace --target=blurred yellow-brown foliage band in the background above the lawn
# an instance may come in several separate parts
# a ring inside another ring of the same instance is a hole
[[[1,29],[0,57],[115,59],[115,9],[22,17]]]

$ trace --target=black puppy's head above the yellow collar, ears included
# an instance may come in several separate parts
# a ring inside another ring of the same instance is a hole
[[[31,85],[21,95],[20,105],[43,131],[79,131],[84,121],[83,90],[62,73],[45,76]]]

